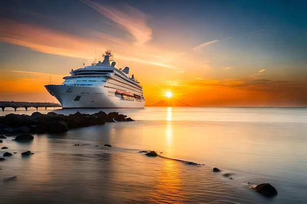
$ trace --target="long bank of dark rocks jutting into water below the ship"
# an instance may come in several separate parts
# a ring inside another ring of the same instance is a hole
[[[64,133],[72,128],[103,125],[105,122],[133,121],[127,115],[116,112],[94,114],[75,113],[63,115],[57,113],[42,114],[39,112],[26,114],[7,114],[0,116],[0,134],[16,136],[18,134],[32,133]]]

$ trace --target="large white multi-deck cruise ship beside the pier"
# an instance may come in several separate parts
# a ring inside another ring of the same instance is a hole
[[[143,88],[133,74],[129,77],[129,68],[115,68],[109,50],[102,56],[103,62],[72,69],[61,85],[45,85],[45,88],[63,109],[144,108]]]

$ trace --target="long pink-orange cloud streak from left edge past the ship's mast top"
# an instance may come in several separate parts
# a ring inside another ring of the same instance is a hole
[[[140,51],[137,45],[132,46],[131,43],[123,39],[90,29],[88,31],[101,39],[99,44],[103,44],[104,47],[99,46],[97,47],[98,50],[104,50],[108,47],[112,47],[112,50],[117,50],[116,59],[174,68],[167,65],[167,62],[165,62],[166,58],[159,59],[150,54],[154,53],[153,47],[145,47]],[[1,18],[0,42],[25,46],[33,51],[85,59],[93,59],[95,52],[93,47],[97,45],[97,40],[95,39],[83,38],[35,24],[26,24]],[[140,39],[139,42],[141,42]]]

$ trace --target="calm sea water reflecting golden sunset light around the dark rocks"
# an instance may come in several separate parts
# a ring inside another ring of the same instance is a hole
[[[39,110],[119,112],[135,121],[63,134],[3,139],[1,204],[303,204],[307,201],[307,108]],[[8,113],[31,114],[36,110]],[[110,144],[112,147],[104,146]],[[76,146],[77,145],[77,146]],[[34,155],[22,157],[31,151]],[[163,157],[147,157],[155,150]],[[15,154],[14,154],[15,153]],[[204,165],[189,165],[192,161]],[[223,171],[214,173],[213,167]],[[226,173],[230,177],[223,176]],[[5,178],[15,177],[4,181]],[[249,188],[271,183],[266,198]]]

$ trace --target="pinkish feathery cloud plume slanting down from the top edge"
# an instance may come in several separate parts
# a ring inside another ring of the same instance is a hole
[[[138,9],[125,5],[125,10],[118,10],[91,0],[81,1],[111,21],[123,26],[135,38],[137,45],[143,45],[152,39],[152,29],[146,24],[146,15]]]

